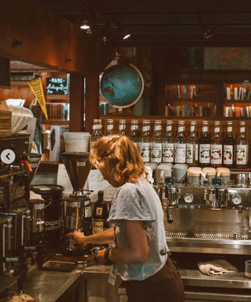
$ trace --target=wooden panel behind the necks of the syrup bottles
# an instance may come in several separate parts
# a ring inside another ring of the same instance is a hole
[[[227,121],[232,121],[233,122],[233,136],[234,138],[238,137],[239,132],[240,132],[240,121],[245,121],[246,122],[246,136],[248,139],[251,139],[251,118],[224,118],[224,117],[217,117],[217,118],[209,118],[209,117],[167,117],[167,116],[118,116],[118,115],[110,115],[110,116],[101,116],[102,123],[103,123],[103,132],[104,134],[107,133],[107,120],[108,119],[113,119],[114,122],[114,133],[118,133],[118,123],[120,119],[125,119],[126,120],[126,132],[127,135],[130,133],[130,123],[132,119],[137,119],[139,121],[139,135],[142,133],[142,121],[144,119],[150,120],[150,135],[153,135],[154,132],[154,120],[161,120],[162,121],[162,136],[165,135],[166,131],[166,121],[167,120],[172,120],[173,121],[173,136],[176,137],[178,133],[178,121],[185,121],[185,135],[186,137],[189,136],[190,128],[189,124],[190,121],[196,121],[196,132],[197,132],[197,137],[200,138],[201,133],[202,133],[202,122],[203,121],[208,121],[209,123],[209,133],[210,137],[213,136],[214,134],[214,121],[220,121],[221,125],[221,137],[224,139],[226,136],[226,130],[227,130]]]

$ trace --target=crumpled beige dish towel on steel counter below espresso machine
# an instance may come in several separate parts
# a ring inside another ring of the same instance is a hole
[[[238,272],[236,267],[226,260],[214,260],[209,262],[199,262],[198,267],[203,274],[214,276],[222,275],[222,273]]]

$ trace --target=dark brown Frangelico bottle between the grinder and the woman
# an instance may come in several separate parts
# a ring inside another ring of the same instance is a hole
[[[92,231],[94,234],[104,231],[104,222],[108,219],[108,208],[104,200],[104,191],[98,191],[98,200],[94,204],[92,211]]]

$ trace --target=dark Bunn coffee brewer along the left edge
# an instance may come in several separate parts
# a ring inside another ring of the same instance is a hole
[[[0,294],[15,282],[21,290],[27,272],[24,247],[29,244],[30,235],[30,211],[25,206],[30,197],[29,136],[0,138],[0,154],[5,149],[15,153],[11,164],[0,160]]]

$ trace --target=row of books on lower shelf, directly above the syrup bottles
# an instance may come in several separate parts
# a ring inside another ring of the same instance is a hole
[[[165,110],[166,116],[216,116],[216,105],[211,106],[192,106],[180,105],[171,106],[168,104]]]

